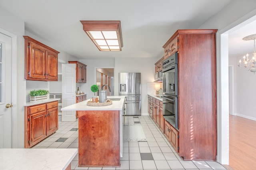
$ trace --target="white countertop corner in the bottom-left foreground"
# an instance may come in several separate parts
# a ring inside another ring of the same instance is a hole
[[[0,149],[1,170],[65,170],[77,149]]]

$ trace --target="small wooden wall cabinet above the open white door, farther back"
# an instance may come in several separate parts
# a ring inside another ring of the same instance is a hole
[[[86,65],[79,61],[68,61],[68,63],[76,64],[76,82],[86,83]]]

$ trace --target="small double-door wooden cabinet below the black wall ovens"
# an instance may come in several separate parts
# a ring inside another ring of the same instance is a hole
[[[178,131],[166,120],[164,121],[164,136],[178,153]]]

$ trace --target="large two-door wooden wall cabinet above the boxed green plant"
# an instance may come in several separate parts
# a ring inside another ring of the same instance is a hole
[[[58,81],[58,51],[32,39],[25,39],[25,79]]]

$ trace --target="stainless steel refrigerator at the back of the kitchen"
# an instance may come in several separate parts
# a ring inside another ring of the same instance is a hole
[[[140,72],[119,73],[119,96],[125,96],[125,115],[140,115]]]

